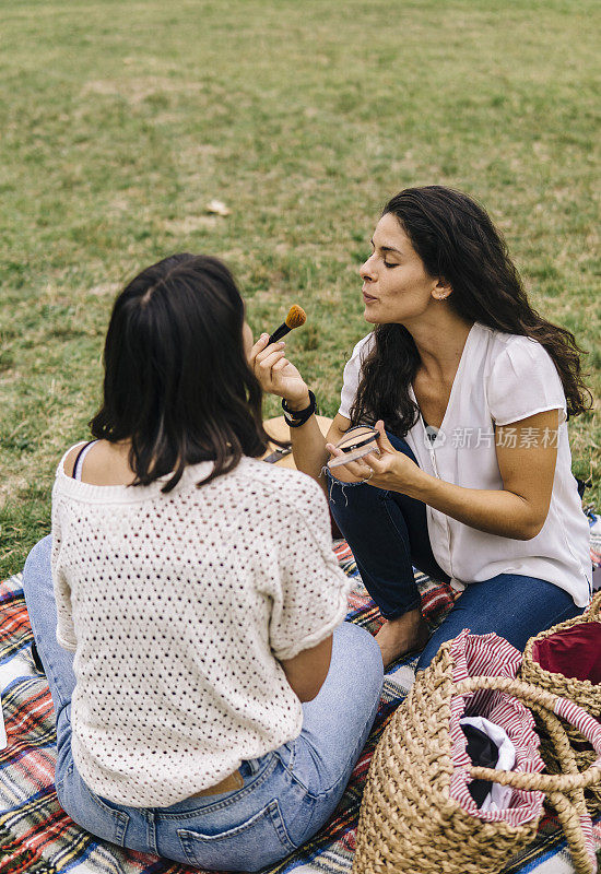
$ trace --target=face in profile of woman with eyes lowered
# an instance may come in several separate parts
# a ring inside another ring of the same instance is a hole
[[[436,304],[433,292],[440,287],[438,277],[426,272],[396,215],[382,215],[372,245],[374,251],[360,270],[366,321],[403,324]]]

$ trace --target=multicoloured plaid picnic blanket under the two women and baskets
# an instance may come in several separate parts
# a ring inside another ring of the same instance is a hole
[[[344,541],[334,544],[355,580],[347,619],[375,633],[382,619],[369,599]],[[452,605],[450,587],[416,574],[424,615],[437,625]],[[0,693],[8,747],[0,752],[0,874],[191,874],[195,870],[96,840],[60,808],[54,786],[56,736],[46,678],[31,657],[32,630],[21,576],[0,583]],[[361,798],[369,760],[392,712],[413,681],[412,660],[387,673],[367,745],[334,814],[313,840],[266,874],[346,874],[351,870]],[[601,848],[601,819],[594,826]],[[509,860],[504,874],[570,874],[557,820],[547,816],[537,840]]]

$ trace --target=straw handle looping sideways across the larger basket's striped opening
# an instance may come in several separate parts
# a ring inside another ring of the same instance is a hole
[[[581,773],[535,773],[530,771],[502,771],[496,768],[483,768],[476,765],[469,767],[469,773],[476,780],[492,780],[514,789],[538,790],[541,792],[569,792],[586,789],[601,782],[601,725],[581,707],[559,698],[546,689],[541,689],[521,680],[503,676],[474,676],[455,684],[458,695],[467,695],[479,689],[504,692],[531,701],[539,707],[551,710],[566,722],[577,728],[589,741],[597,753],[596,761]]]

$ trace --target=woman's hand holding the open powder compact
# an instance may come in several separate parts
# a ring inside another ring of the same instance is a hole
[[[376,446],[379,454],[369,452],[356,461],[334,466],[332,475],[344,483],[369,483],[376,488],[390,492],[411,494],[417,484],[422,471],[403,452],[398,452],[386,435],[384,422],[376,422]],[[331,460],[344,458],[344,452],[332,444],[326,444],[326,449],[331,454]]]

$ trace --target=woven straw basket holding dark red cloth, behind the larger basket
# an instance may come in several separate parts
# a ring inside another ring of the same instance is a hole
[[[554,625],[546,631],[535,637],[531,637],[523,652],[523,660],[519,671],[521,680],[532,683],[540,688],[559,695],[562,698],[569,698],[594,719],[601,719],[601,685],[593,685],[588,680],[574,680],[563,674],[554,674],[545,671],[532,659],[532,647],[539,640],[550,637],[565,628],[587,622],[601,622],[601,592],[598,592],[592,600],[590,607],[575,619],[568,619],[559,625]],[[550,737],[547,720],[544,713],[537,714],[537,729],[541,737],[541,756],[544,764],[552,773],[559,773],[562,770],[554,744]],[[565,727],[567,736],[576,756],[576,764],[579,771],[586,770],[594,761],[594,751],[590,744],[586,743],[578,729]],[[601,787],[592,787],[587,790],[586,801],[590,813],[601,810]]]

